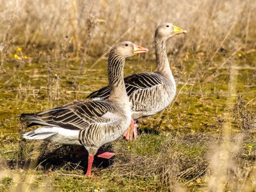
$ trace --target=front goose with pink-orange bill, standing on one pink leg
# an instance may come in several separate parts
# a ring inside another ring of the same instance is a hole
[[[75,101],[47,111],[22,114],[20,120],[23,122],[42,125],[23,137],[67,145],[83,145],[89,153],[86,176],[91,175],[94,155],[98,148],[120,137],[131,122],[131,104],[123,80],[124,60],[147,52],[146,48],[130,41],[114,45],[108,58],[108,99]]]

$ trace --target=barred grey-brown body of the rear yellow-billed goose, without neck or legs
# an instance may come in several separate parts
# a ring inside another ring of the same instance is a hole
[[[169,79],[157,72],[134,74],[124,78],[125,88],[133,119],[155,115],[172,102],[176,93],[174,79]],[[93,99],[108,99],[110,88],[106,86],[91,93]]]

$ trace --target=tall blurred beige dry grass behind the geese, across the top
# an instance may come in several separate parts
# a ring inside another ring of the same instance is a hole
[[[21,45],[29,50],[53,51],[55,57],[61,53],[71,53],[70,57],[87,53],[100,56],[116,40],[129,39],[149,48],[153,55],[155,28],[166,21],[188,31],[173,39],[170,50],[203,51],[209,60],[214,59],[220,48],[232,53],[241,46],[246,48],[255,39],[253,1],[136,1],[130,5],[105,0],[0,3],[0,39],[8,53],[13,46]]]

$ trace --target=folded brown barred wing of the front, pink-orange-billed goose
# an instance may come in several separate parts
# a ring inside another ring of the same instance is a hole
[[[52,110],[22,114],[23,121],[59,126],[70,130],[86,129],[90,124],[116,126],[122,118],[113,105],[104,101],[76,101]]]

